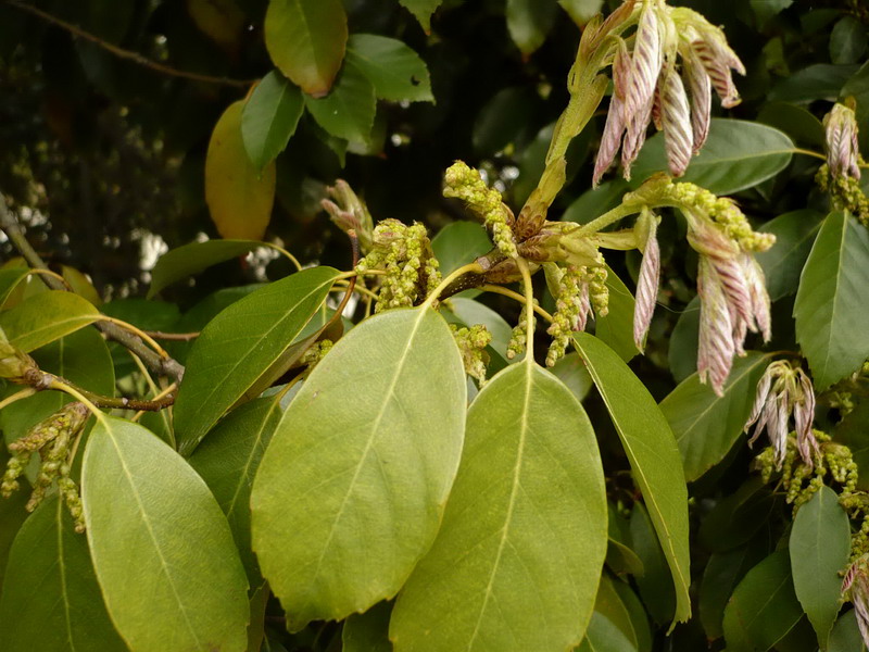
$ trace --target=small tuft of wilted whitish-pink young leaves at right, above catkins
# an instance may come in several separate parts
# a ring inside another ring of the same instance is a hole
[[[776,450],[776,465],[781,468],[788,441],[789,419],[793,414],[796,426],[796,444],[803,463],[811,468],[813,457],[819,454],[818,442],[813,435],[815,418],[815,389],[808,375],[794,368],[785,360],[770,364],[757,384],[757,394],[744,431],[755,425],[754,443],[765,429]]]

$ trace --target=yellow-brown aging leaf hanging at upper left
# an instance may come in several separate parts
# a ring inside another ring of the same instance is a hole
[[[251,163],[241,137],[244,102],[229,105],[214,127],[205,156],[205,201],[223,238],[261,240],[275,203],[275,165]]]

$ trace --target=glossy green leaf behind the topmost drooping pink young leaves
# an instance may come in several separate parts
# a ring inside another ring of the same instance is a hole
[[[703,151],[691,160],[680,180],[703,186],[716,195],[732,195],[777,175],[791,162],[794,143],[766,125],[742,120],[714,118]],[[667,171],[664,133],[653,136],[633,165],[633,185]]]

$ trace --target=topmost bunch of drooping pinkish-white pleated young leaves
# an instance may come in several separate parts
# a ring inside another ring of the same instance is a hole
[[[594,164],[595,186],[619,148],[625,177],[630,178],[651,122],[664,130],[670,174],[681,176],[708,136],[711,89],[725,109],[740,103],[732,71],[744,75],[745,67],[719,27],[664,0],[632,5],[620,29],[635,22],[637,30],[615,36],[614,91]]]

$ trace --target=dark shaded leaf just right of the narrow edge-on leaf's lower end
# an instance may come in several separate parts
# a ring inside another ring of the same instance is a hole
[[[672,620],[676,594],[669,581],[667,557],[642,503],[637,503],[631,512],[631,541],[643,563],[643,574],[637,577],[640,595],[655,622],[664,625]]]

